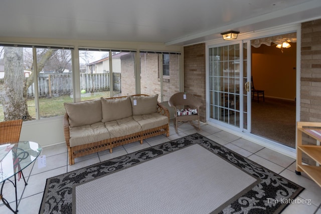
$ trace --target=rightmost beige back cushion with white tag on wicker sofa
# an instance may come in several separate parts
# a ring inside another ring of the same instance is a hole
[[[157,98],[158,94],[146,97],[130,97],[132,115],[152,114],[157,112]]]

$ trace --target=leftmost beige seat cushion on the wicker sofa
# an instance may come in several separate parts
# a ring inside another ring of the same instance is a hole
[[[110,134],[102,122],[70,128],[70,147],[109,139]]]

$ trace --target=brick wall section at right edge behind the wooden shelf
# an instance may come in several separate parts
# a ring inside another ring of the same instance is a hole
[[[321,19],[301,24],[300,121],[321,122]],[[315,140],[303,135],[303,141]],[[303,162],[315,162],[303,155]]]

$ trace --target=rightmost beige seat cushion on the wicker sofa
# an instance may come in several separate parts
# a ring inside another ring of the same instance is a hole
[[[147,129],[156,128],[158,126],[166,125],[169,123],[169,118],[159,113],[134,115],[132,117],[135,121],[139,123],[143,131]]]

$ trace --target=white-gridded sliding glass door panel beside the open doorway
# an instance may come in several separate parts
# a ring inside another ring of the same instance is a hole
[[[209,47],[210,121],[248,128],[247,54],[246,43]]]

